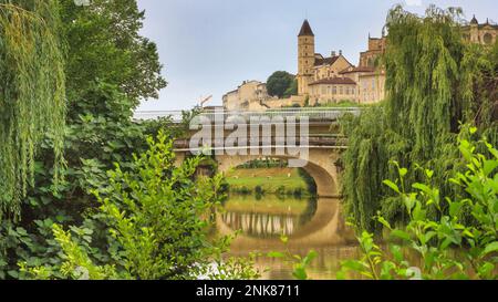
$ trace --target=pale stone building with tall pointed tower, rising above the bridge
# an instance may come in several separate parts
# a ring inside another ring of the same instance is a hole
[[[375,103],[384,100],[385,74],[376,67],[385,51],[385,38],[370,38],[369,49],[360,53],[360,64],[351,64],[340,51],[330,58],[315,53],[314,34],[304,20],[298,34],[298,92],[311,105],[352,101]]]

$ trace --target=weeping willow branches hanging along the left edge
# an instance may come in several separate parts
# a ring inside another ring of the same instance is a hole
[[[18,219],[48,137],[62,159],[64,58],[56,0],[0,0],[0,219]]]

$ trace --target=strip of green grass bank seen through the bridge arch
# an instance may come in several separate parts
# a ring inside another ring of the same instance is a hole
[[[299,176],[297,169],[289,168],[255,168],[235,169],[227,175],[230,189],[247,188],[255,191],[260,186],[264,192],[274,194],[283,186],[286,191],[302,189],[307,190],[307,184]]]

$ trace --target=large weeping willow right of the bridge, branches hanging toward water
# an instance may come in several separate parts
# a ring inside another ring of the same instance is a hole
[[[433,181],[443,194],[453,188],[448,177],[459,169],[455,146],[461,123],[478,125],[497,142],[496,55],[464,41],[461,10],[429,7],[425,17],[395,7],[388,13],[386,52],[380,60],[386,72],[386,101],[346,123],[350,136],[344,155],[343,194],[346,209],[362,229],[378,230],[377,211],[392,222],[403,221],[403,205],[390,197],[384,179],[396,179],[391,160],[416,170],[407,186],[422,180],[423,168],[435,170]]]

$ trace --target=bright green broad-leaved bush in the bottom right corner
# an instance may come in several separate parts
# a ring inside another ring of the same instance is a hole
[[[490,157],[477,152],[483,146]],[[363,231],[359,237],[363,256],[343,262],[340,278],[354,271],[371,279],[498,279],[498,150],[486,140],[476,145],[466,139],[460,140],[459,150],[467,170],[456,173],[450,183],[467,196],[443,197],[430,185],[434,171],[428,169],[424,170],[426,183],[414,184],[411,191],[404,181],[408,170],[396,163],[398,181],[384,184],[403,200],[408,222],[400,229],[382,216],[376,221],[402,246],[392,243],[383,250],[372,233]],[[430,211],[437,212],[435,218],[428,216]],[[404,248],[422,259],[421,268],[404,257]]]

